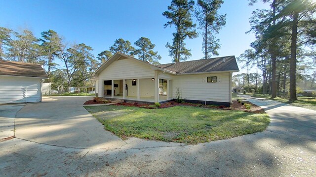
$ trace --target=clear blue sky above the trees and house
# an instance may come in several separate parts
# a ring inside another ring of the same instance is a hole
[[[169,63],[167,42],[172,42],[174,28],[163,28],[167,19],[162,12],[171,0],[0,0],[0,26],[14,30],[29,29],[35,36],[53,29],[69,44],[85,43],[93,54],[108,50],[118,38],[132,44],[140,37],[148,37],[156,44],[160,63]],[[265,5],[266,6],[266,5]],[[225,0],[219,13],[227,14],[226,26],[217,35],[221,49],[219,56],[238,57],[254,41],[249,17],[263,4],[248,6],[248,0]],[[187,39],[191,49],[188,60],[201,59],[202,38]],[[241,69],[242,64],[238,64]],[[243,70],[244,71],[244,70]]]

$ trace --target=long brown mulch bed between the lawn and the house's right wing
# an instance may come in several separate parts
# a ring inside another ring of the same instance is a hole
[[[169,101],[166,103],[161,103],[160,107],[154,107],[154,105],[150,104],[145,104],[145,103],[117,103],[115,104],[116,106],[133,106],[133,107],[139,107],[139,108],[146,108],[146,109],[161,109],[161,108],[169,108],[173,106],[196,106],[196,107],[202,107],[202,108],[212,108],[212,109],[222,109],[222,110],[238,110],[238,111],[244,111],[244,112],[250,112],[250,113],[264,113],[264,110],[257,106],[254,105],[248,101],[242,101],[243,103],[248,103],[251,104],[251,109],[247,110],[244,105],[241,103],[238,103],[237,100],[233,101],[233,104],[231,104],[231,107],[226,107],[226,106],[217,106],[217,105],[202,105],[202,104],[195,104],[195,103],[177,103],[175,101]]]

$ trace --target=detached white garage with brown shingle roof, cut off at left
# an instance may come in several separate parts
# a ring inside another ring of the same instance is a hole
[[[44,79],[39,64],[0,59],[0,104],[40,102]]]

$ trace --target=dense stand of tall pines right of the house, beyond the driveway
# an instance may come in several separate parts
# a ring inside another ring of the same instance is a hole
[[[249,1],[249,5],[257,2]],[[261,1],[269,3],[270,8],[253,12],[248,32],[255,33],[256,40],[238,60],[247,68],[247,86],[251,78],[249,70],[255,67],[257,83],[258,71],[261,71],[262,93],[270,93],[275,98],[277,92],[288,90],[292,102],[297,99],[297,81],[303,79],[306,87],[316,87],[316,3],[311,0]]]

